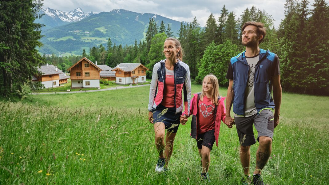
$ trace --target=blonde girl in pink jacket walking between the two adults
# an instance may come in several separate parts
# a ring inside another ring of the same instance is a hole
[[[220,120],[225,121],[225,97],[220,97],[218,80],[215,75],[207,75],[203,79],[202,91],[193,94],[190,112],[181,117],[182,125],[187,122],[187,117],[192,116],[191,137],[196,139],[202,163],[202,180],[209,180],[210,151],[214,142],[218,146]],[[188,115],[188,116],[187,116]],[[225,122],[224,122],[225,123]],[[231,123],[230,126],[232,127]]]

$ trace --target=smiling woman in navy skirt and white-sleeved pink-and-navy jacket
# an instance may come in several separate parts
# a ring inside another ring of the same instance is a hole
[[[163,53],[166,59],[153,67],[148,103],[148,119],[154,124],[155,145],[159,152],[156,172],[167,170],[183,111],[183,88],[187,115],[191,100],[190,68],[182,62],[184,53],[180,42],[176,38],[167,38]]]

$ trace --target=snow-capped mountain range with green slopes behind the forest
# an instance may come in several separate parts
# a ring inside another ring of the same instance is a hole
[[[152,13],[137,13],[122,9],[111,12],[84,13],[80,8],[65,13],[50,8],[42,10],[44,16],[38,23],[45,24],[38,48],[43,54],[70,53],[81,55],[83,49],[89,51],[93,46],[106,46],[109,38],[116,45],[132,45],[135,40],[145,39],[148,23],[153,18],[160,27],[161,21],[171,32],[178,35],[180,22]],[[186,24],[186,22],[183,22]]]

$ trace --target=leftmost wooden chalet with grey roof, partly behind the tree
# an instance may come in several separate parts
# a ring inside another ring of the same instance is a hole
[[[32,77],[32,81],[40,81],[44,88],[53,88],[60,86],[59,74],[63,74],[63,71],[58,69],[54,65],[41,65],[38,67],[39,74]]]

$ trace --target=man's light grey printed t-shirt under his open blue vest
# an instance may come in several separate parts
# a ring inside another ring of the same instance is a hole
[[[259,54],[254,57],[246,57],[249,65],[248,81],[244,92],[244,117],[249,117],[257,113],[255,105],[255,93],[254,93],[254,79],[256,64],[259,60]],[[235,117],[239,117],[234,114]]]

